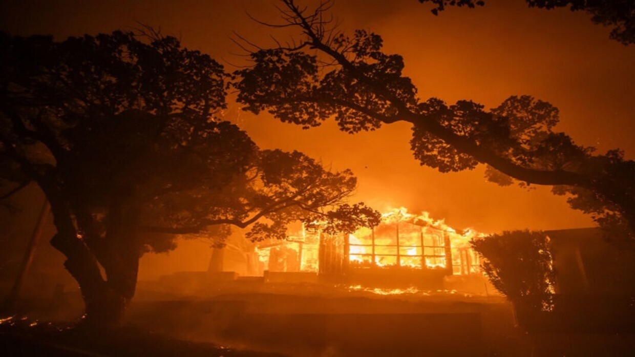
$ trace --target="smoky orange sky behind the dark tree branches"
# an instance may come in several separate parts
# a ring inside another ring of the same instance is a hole
[[[53,34],[130,29],[137,22],[161,26],[188,48],[210,53],[233,69],[241,58],[229,37],[236,30],[267,42],[272,29],[245,15],[275,21],[275,1],[6,1],[0,28],[12,34]],[[307,1],[311,3],[311,1]],[[486,0],[484,8],[450,8],[439,17],[415,0],[337,0],[343,30],[368,29],[400,53],[421,98],[472,99],[487,107],[509,95],[530,94],[561,110],[558,129],[601,151],[620,147],[632,158],[635,143],[635,45],[608,39],[609,29],[584,13],[528,9],[522,0]],[[224,62],[227,61],[227,62]],[[483,168],[441,174],[419,166],[404,123],[348,135],[334,123],[301,130],[271,116],[253,116],[229,104],[225,113],[263,148],[298,149],[359,177],[356,199],[383,210],[406,206],[479,231],[591,226],[547,187],[526,191],[485,182]],[[178,255],[178,253],[177,253]]]

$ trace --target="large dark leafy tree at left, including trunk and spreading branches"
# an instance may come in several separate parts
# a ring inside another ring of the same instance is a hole
[[[23,182],[41,187],[57,227],[51,245],[98,328],[121,321],[140,256],[174,248],[173,234],[254,224],[257,239],[280,236],[291,219],[328,217],[341,229],[378,220],[344,204],[351,172],[260,151],[217,119],[227,75],[215,60],[147,37],[0,34],[0,152],[11,168],[0,175],[17,182],[5,196]]]

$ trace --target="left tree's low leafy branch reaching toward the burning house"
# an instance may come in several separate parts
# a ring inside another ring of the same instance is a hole
[[[286,227],[302,221],[329,233],[351,233],[379,224],[380,213],[350,205],[357,179],[351,170],[330,172],[302,152],[255,152],[241,175],[218,191],[180,189],[147,207],[142,229],[160,234],[206,234],[210,226],[251,226],[252,241],[286,238]],[[215,231],[221,238],[222,229]]]

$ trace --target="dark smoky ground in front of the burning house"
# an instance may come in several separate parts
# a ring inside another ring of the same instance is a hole
[[[632,333],[527,333],[500,296],[314,284],[213,286],[173,295],[141,284],[126,327],[99,339],[43,323],[51,321],[44,316],[14,318],[13,326],[0,325],[0,355],[575,357],[635,351]],[[79,313],[81,299],[73,299]]]

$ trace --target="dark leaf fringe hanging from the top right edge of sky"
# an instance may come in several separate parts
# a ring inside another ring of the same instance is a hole
[[[485,5],[485,1],[474,0],[418,0],[432,3],[434,15],[446,6],[467,6],[475,8]],[[622,44],[635,43],[635,1],[633,0],[525,0],[530,8],[551,10],[566,8],[571,11],[585,11],[591,15],[594,24],[612,26],[610,37]]]

